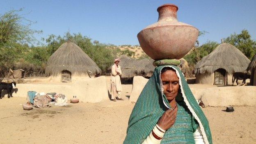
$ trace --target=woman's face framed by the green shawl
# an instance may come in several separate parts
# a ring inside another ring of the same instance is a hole
[[[164,94],[170,102],[176,98],[179,89],[179,79],[177,74],[172,70],[161,73],[161,80],[164,88]]]

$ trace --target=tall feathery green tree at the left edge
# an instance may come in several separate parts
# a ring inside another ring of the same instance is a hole
[[[41,31],[30,29],[30,26],[35,22],[21,16],[21,11],[23,9],[0,14],[0,77],[4,77],[9,69],[27,70],[31,68],[34,72],[37,72],[33,68],[34,65],[30,64],[37,61],[37,58],[30,59],[30,61],[24,61],[24,59],[31,55],[28,44],[37,41],[34,34],[41,33]],[[21,62],[29,65],[23,65],[25,67],[22,67]],[[37,69],[42,71],[40,67]]]

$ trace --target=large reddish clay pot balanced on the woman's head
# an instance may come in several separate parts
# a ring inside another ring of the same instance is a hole
[[[139,32],[139,44],[152,59],[181,59],[194,46],[199,31],[177,21],[176,5],[162,5],[157,11],[158,22]]]

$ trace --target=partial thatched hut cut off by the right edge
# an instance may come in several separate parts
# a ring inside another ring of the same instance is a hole
[[[251,74],[250,85],[256,86],[256,55],[251,59],[246,70]]]

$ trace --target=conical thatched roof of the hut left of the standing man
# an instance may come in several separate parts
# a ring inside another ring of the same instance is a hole
[[[97,64],[75,43],[63,43],[53,55],[50,56],[47,66],[46,74],[57,75],[63,70],[68,70],[72,74],[78,75],[101,73],[101,69]]]

